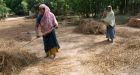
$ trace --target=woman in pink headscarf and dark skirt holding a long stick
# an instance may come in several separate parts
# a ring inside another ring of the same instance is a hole
[[[45,4],[41,4],[39,6],[39,14],[37,17],[37,24],[35,29],[37,38],[40,37],[39,28],[41,28],[43,35],[46,57],[53,56],[53,58],[55,58],[56,53],[60,48],[55,34],[55,28],[58,28],[58,22],[54,14],[50,11],[49,7]]]

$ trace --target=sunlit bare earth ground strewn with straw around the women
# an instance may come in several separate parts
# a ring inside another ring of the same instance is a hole
[[[34,20],[0,23],[0,39],[14,40],[21,46],[35,38]],[[45,56],[42,39],[27,45],[41,61],[25,67],[19,75],[140,75],[140,30],[117,26],[113,44],[105,35],[73,32],[74,25],[61,25],[57,32],[61,46],[56,60]]]

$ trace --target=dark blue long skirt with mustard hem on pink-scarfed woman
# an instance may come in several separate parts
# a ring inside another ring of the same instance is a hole
[[[47,56],[55,55],[58,52],[60,46],[56,38],[55,30],[52,30],[50,34],[43,36],[43,42]]]

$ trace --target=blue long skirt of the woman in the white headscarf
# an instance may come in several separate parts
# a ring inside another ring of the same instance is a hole
[[[107,26],[106,38],[108,38],[108,39],[115,38],[115,26],[114,27],[112,27],[110,25]]]

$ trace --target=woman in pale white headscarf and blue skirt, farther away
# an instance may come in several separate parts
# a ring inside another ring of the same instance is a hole
[[[107,23],[107,31],[106,31],[106,38],[107,41],[110,41],[113,43],[115,38],[115,14],[112,10],[112,6],[107,7],[107,13],[105,15],[106,17],[103,19],[105,23]]]

